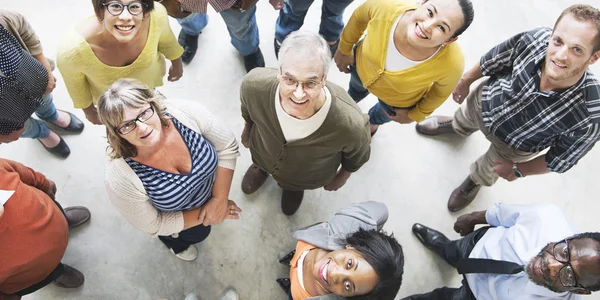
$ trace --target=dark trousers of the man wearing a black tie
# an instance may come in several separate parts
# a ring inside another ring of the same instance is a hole
[[[462,258],[468,258],[475,248],[475,244],[483,237],[490,227],[482,227],[468,234],[462,239],[454,240],[444,245],[444,256],[442,257],[448,264],[456,267],[458,261]],[[476,300],[467,279],[463,277],[462,286],[459,288],[442,287],[435,289],[427,294],[413,295],[403,300]]]

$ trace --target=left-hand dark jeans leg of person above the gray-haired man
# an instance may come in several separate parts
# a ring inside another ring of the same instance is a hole
[[[300,29],[304,24],[304,17],[313,0],[286,0],[279,17],[275,23],[275,39],[283,42],[292,32]]]

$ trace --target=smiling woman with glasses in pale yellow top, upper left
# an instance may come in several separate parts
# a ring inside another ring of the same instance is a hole
[[[183,74],[183,48],[169,26],[167,10],[153,0],[92,0],[95,16],[79,22],[63,38],[57,65],[75,108],[101,125],[100,95],[116,80],[135,78],[161,86],[171,61],[169,81]]]

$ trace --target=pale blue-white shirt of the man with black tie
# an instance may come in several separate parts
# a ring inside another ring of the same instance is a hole
[[[559,242],[575,231],[555,205],[507,205],[487,210],[490,228],[477,242],[470,258],[511,261],[526,266],[548,243]],[[529,280],[525,272],[515,275],[466,274],[478,300],[579,299],[572,293],[554,293]]]

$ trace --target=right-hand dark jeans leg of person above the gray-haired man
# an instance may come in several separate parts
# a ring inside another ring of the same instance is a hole
[[[344,29],[344,10],[350,3],[352,0],[323,0],[319,34],[326,41],[335,42],[340,38]]]

